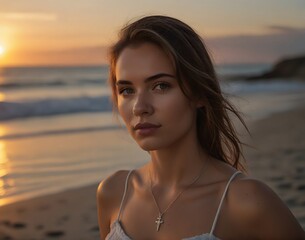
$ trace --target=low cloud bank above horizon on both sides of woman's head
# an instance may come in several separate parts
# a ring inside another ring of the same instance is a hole
[[[264,35],[235,35],[205,38],[216,63],[274,63],[281,58],[305,55],[305,28],[277,26]],[[281,31],[280,31],[281,29]],[[29,51],[12,59],[18,64],[100,65],[107,64],[108,46]],[[31,61],[31,62],[29,62]]]

